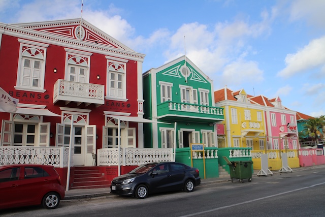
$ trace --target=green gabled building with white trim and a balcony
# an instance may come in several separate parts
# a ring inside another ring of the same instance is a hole
[[[213,81],[186,56],[143,74],[145,148],[217,147],[215,123],[224,120],[214,106]]]

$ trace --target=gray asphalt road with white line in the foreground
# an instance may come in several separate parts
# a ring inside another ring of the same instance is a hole
[[[0,210],[0,216],[324,216],[325,166],[200,185],[194,192],[108,196]]]

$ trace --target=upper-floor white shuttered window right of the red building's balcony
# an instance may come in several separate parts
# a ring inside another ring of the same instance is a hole
[[[108,60],[107,96],[126,99],[126,64]]]

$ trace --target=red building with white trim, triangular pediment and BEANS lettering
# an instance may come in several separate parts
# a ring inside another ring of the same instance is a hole
[[[0,87],[19,99],[16,112],[0,112],[0,147],[71,140],[73,164],[91,166],[97,149],[118,146],[118,117],[121,147],[143,147],[144,56],[80,19],[0,23]]]

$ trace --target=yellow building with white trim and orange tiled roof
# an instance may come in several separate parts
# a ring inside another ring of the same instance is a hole
[[[218,134],[218,147],[248,147],[264,150],[266,126],[264,107],[249,100],[244,89],[222,88],[214,92],[215,106],[224,108],[223,135]],[[222,131],[221,131],[222,132]]]

